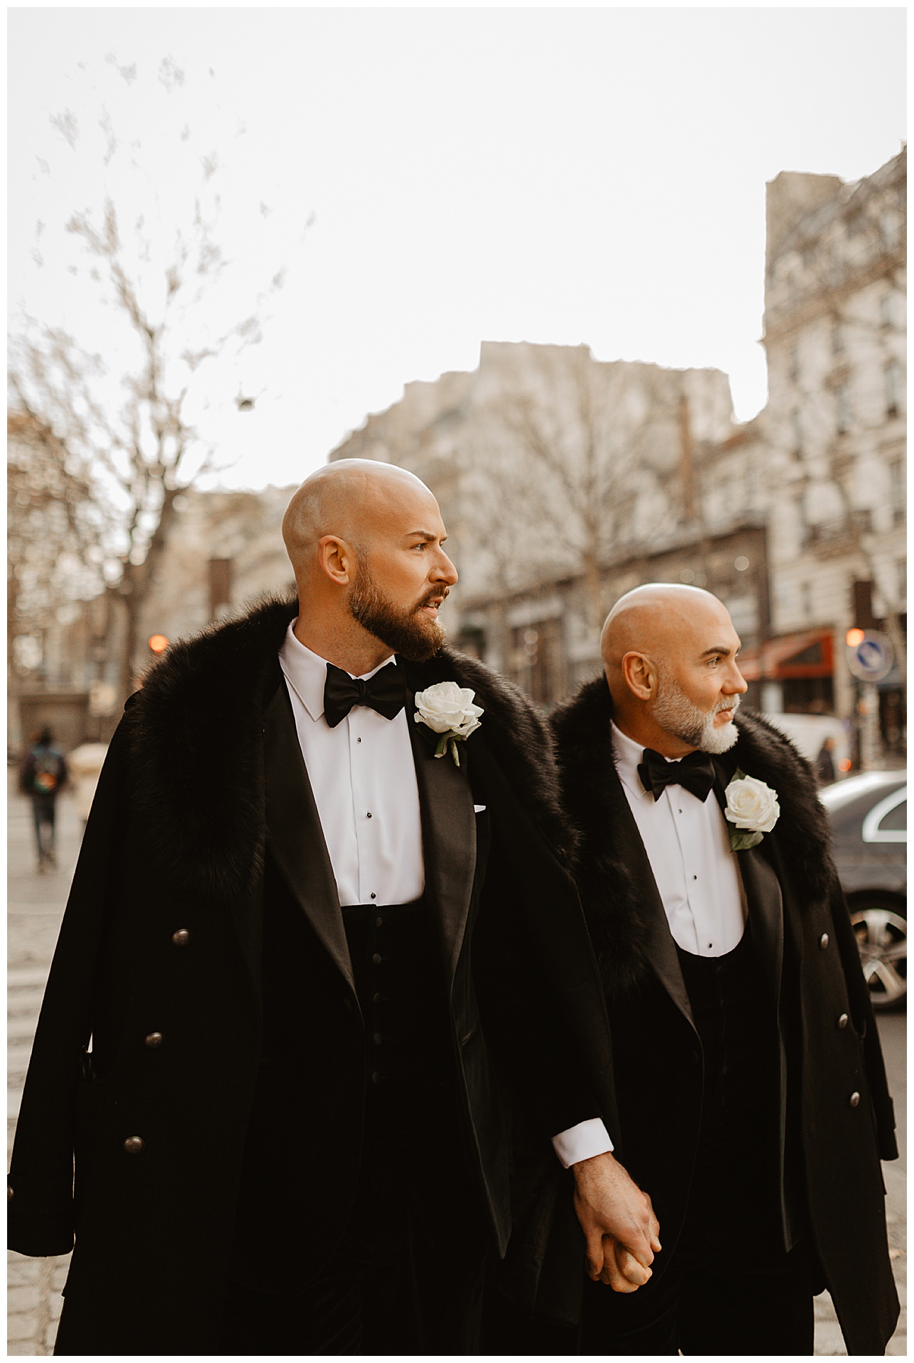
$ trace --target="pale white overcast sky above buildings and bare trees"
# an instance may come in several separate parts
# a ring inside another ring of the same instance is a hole
[[[480,341],[715,365],[749,418],[765,402],[765,181],[855,180],[906,135],[902,7],[8,14],[14,313],[85,323],[115,360],[108,313],[67,303],[64,255],[35,266],[35,222],[46,243],[55,215],[117,198],[101,162],[86,169],[104,105],[160,166],[171,239],[168,57],[173,108],[218,149],[239,297],[270,252],[289,267],[263,343],[209,382],[229,487],[297,481],[404,383],[473,369]],[[64,109],[75,150],[50,123]]]

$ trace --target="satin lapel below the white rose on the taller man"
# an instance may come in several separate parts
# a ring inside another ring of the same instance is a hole
[[[437,758],[432,743],[413,722],[412,698],[407,713],[422,811],[426,895],[438,913],[450,983],[464,942],[476,872],[473,793],[467,774],[465,751],[461,752],[460,767],[454,765],[450,752]]]

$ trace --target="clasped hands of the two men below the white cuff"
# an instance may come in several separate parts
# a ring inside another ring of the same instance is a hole
[[[653,1255],[660,1250],[660,1224],[651,1198],[608,1150],[572,1168],[574,1210],[587,1242],[587,1272],[595,1283],[599,1278],[617,1292],[632,1292],[651,1277]]]

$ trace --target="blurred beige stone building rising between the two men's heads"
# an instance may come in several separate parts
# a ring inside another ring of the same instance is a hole
[[[708,582],[750,638],[767,628],[764,533],[749,525],[737,542],[741,518],[718,515],[712,532],[704,515],[709,451],[733,435],[718,369],[483,342],[477,369],[407,384],[330,459],[398,463],[432,488],[461,575],[452,638],[552,705],[599,668],[603,616],[645,575]]]

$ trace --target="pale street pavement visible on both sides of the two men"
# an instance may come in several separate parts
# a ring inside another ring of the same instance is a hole
[[[7,1065],[8,1122],[7,1142],[19,1112],[31,1039],[50,966],[60,919],[72,871],[79,853],[82,825],[68,795],[57,800],[57,867],[38,875],[29,801],[16,792],[8,773],[8,992],[7,992]],[[889,1084],[895,1099],[902,1157],[883,1165],[885,1178],[887,1220],[892,1266],[902,1302],[902,1317],[888,1344],[887,1353],[907,1353],[906,1313],[906,1028],[904,1014],[880,1020]],[[67,1277],[70,1255],[50,1259],[27,1259],[10,1251],[7,1295],[8,1356],[49,1356],[63,1299],[60,1289]],[[748,1341],[749,1344],[749,1341]],[[748,1347],[746,1352],[752,1352]],[[846,1348],[838,1321],[824,1292],[816,1298],[816,1353],[843,1355]]]

